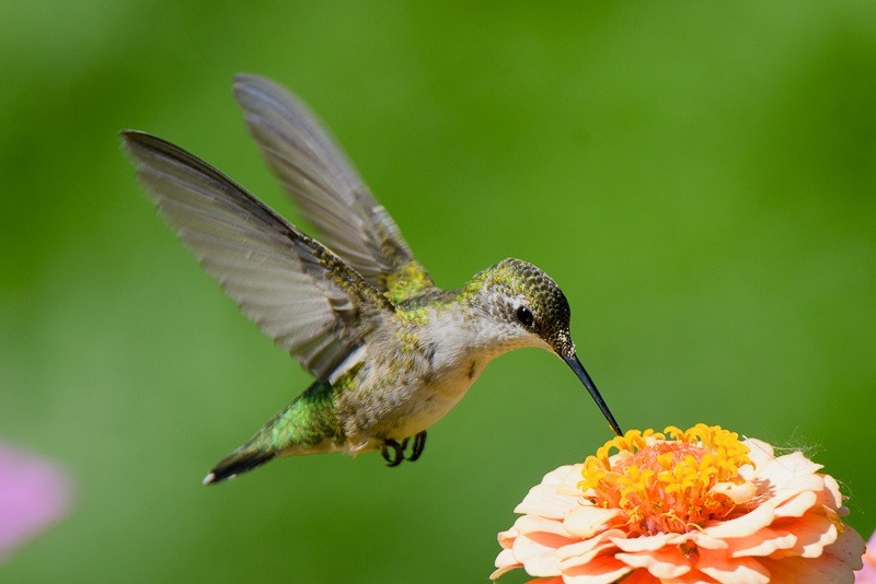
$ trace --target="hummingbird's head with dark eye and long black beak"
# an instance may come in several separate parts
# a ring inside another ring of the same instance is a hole
[[[481,305],[495,324],[494,342],[505,350],[541,347],[555,353],[587,387],[614,432],[622,435],[575,353],[569,332],[572,311],[556,282],[532,264],[514,258],[502,260],[483,275]]]

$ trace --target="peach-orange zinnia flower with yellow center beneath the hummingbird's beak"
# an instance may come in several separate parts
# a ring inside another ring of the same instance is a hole
[[[529,491],[491,577],[523,568],[539,584],[851,583],[864,540],[820,468],[719,427],[630,431]]]

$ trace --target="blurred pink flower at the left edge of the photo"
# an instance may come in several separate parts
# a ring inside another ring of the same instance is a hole
[[[0,444],[0,562],[67,513],[70,488],[51,463]]]

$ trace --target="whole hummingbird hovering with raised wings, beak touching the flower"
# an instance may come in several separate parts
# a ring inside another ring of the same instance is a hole
[[[380,451],[388,466],[416,460],[427,429],[486,364],[523,347],[565,361],[622,434],[576,355],[569,304],[553,279],[508,258],[456,290],[437,288],[303,102],[252,74],[235,75],[233,93],[322,243],[185,150],[147,132],[120,132],[159,214],[243,314],[315,379],[220,460],[205,484],[279,456]]]

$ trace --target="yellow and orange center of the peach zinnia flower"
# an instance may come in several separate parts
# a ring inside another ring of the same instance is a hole
[[[664,432],[631,430],[584,463],[578,487],[585,498],[625,511],[632,535],[685,533],[726,517],[736,502],[721,487],[744,482],[739,467],[751,464],[738,434],[721,427]],[[612,448],[618,453],[609,456]]]

